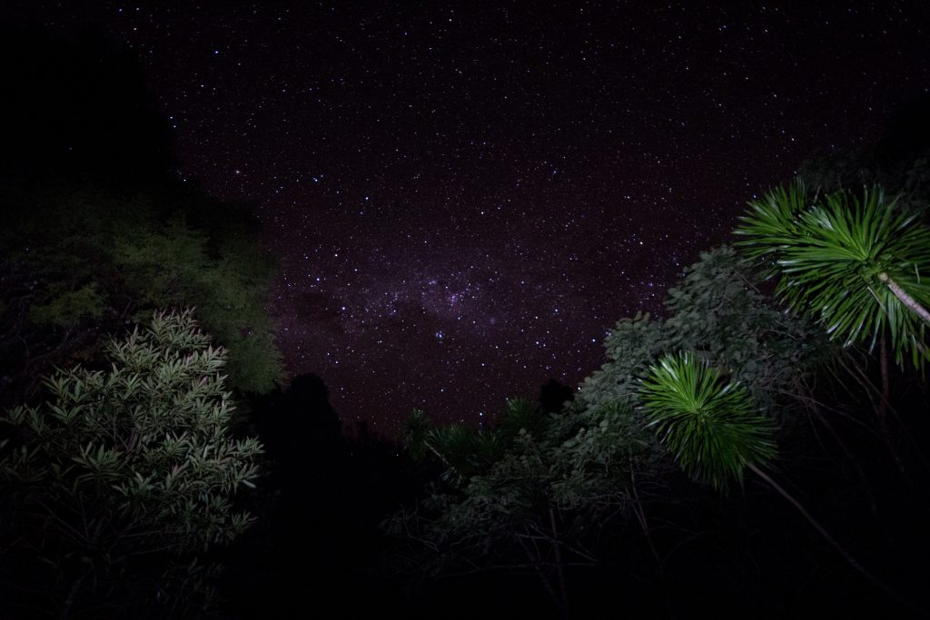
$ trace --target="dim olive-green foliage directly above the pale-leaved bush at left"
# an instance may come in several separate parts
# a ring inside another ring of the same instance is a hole
[[[0,263],[11,300],[0,314],[7,373],[34,373],[16,364],[37,353],[73,363],[76,350],[130,319],[195,306],[229,350],[233,387],[266,391],[280,378],[264,308],[272,263],[241,211],[225,205],[223,213],[196,192],[6,191],[16,205],[0,231],[9,248]]]

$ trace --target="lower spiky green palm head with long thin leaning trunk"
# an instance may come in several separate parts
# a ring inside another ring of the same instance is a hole
[[[887,594],[909,605],[870,574],[814,517],[765,471],[776,455],[775,424],[757,413],[749,390],[725,380],[693,352],[662,357],[642,381],[640,397],[648,424],[668,446],[679,467],[697,481],[725,491],[751,470],[784,497],[836,548],[850,566]]]

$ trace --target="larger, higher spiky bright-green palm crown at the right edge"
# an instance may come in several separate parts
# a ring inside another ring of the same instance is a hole
[[[835,191],[813,197],[803,182],[750,201],[735,231],[749,257],[774,262],[777,295],[812,314],[844,347],[885,333],[901,366],[930,360],[930,229],[886,201],[876,186],[861,196]]]

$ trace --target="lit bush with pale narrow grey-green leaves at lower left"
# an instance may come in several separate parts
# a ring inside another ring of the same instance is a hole
[[[198,553],[250,521],[233,495],[253,486],[262,446],[233,438],[226,351],[192,310],[156,312],[106,353],[109,371],[60,370],[46,402],[0,416],[7,561],[29,602],[62,618],[100,604],[183,614],[209,600]]]

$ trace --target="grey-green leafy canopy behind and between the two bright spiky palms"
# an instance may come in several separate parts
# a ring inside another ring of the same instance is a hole
[[[819,330],[760,291],[763,275],[733,247],[702,253],[669,289],[668,319],[637,313],[608,333],[607,362],[582,382],[579,406],[635,406],[646,368],[662,353],[694,350],[747,386],[760,406],[788,415],[794,403],[783,392],[829,347]]]

